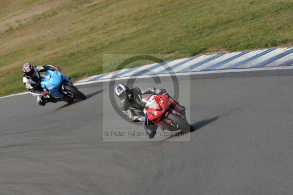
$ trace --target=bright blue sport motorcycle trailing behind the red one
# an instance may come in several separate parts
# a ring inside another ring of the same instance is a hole
[[[48,70],[42,75],[41,86],[50,92],[51,97],[67,103],[73,102],[74,99],[86,99],[85,95],[60,71]]]

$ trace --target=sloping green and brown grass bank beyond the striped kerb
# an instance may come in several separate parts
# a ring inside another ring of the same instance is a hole
[[[292,0],[3,0],[0,96],[25,91],[25,62],[60,65],[77,80],[121,60],[103,68],[103,54],[166,60],[292,45],[292,35]]]

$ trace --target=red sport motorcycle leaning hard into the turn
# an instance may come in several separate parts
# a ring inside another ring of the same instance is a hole
[[[177,102],[167,93],[147,96],[143,100],[146,102],[144,113],[148,120],[162,130],[193,130],[186,119],[185,111],[181,113]]]

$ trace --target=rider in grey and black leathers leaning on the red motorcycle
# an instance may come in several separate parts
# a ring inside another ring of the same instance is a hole
[[[143,116],[137,115],[134,112],[134,109],[144,110],[146,102],[142,100],[142,95],[161,95],[166,92],[167,91],[165,89],[156,89],[155,87],[134,87],[131,90],[124,84],[119,84],[115,87],[115,94],[121,99],[122,112],[132,122],[141,121],[150,139],[155,136],[158,126],[154,125],[153,122],[150,122],[146,114],[144,114]],[[185,107],[183,106],[180,106],[180,109],[182,111],[185,111]]]

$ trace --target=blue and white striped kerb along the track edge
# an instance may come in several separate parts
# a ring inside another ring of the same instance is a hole
[[[293,65],[293,47],[270,48],[255,51],[241,51],[232,53],[215,53],[197,55],[167,62],[128,68],[116,72],[105,73],[85,78],[78,83],[110,79],[114,75],[119,77],[142,76],[154,74],[203,72],[211,70],[227,70],[240,68],[277,67]]]

